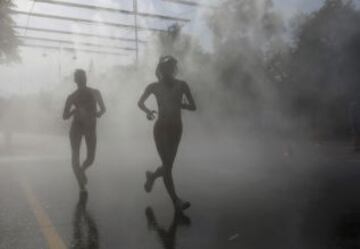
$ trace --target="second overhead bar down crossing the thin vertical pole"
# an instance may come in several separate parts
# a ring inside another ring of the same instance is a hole
[[[19,11],[19,10],[10,10],[13,14],[18,15],[29,15],[28,12]],[[41,17],[41,18],[49,18],[49,19],[56,19],[56,20],[63,20],[63,21],[73,21],[73,22],[81,22],[86,24],[97,24],[97,25],[104,25],[104,26],[111,26],[116,28],[127,28],[127,29],[134,29],[135,26],[132,24],[123,24],[123,23],[113,23],[113,22],[101,22],[89,19],[82,19],[82,18],[75,18],[75,17],[65,17],[65,16],[57,16],[57,15],[48,15],[48,14],[40,14],[40,13],[32,13],[32,16]],[[157,28],[148,28],[137,26],[139,30],[149,30],[153,32],[167,32],[165,29],[157,29]]]

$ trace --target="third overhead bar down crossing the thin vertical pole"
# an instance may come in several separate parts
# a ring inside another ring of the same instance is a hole
[[[25,27],[25,26],[19,26],[19,25],[15,25],[14,28],[27,29],[27,30],[39,31],[39,32],[47,32],[47,33],[64,34],[64,35],[78,35],[78,36],[96,37],[96,38],[101,38],[101,39],[109,39],[109,40],[117,40],[117,41],[135,42],[135,39],[125,38],[125,37],[117,37],[117,36],[97,35],[97,34],[90,34],[90,33],[55,30],[55,29],[45,29],[45,28],[37,28],[37,27]],[[138,40],[138,42],[146,43],[146,41],[143,41],[143,40]]]

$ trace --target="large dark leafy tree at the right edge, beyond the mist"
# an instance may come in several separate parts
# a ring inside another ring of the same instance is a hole
[[[355,68],[360,63],[359,21],[351,1],[327,0],[295,34],[287,68],[288,104],[323,135],[350,127],[348,106],[360,90]]]

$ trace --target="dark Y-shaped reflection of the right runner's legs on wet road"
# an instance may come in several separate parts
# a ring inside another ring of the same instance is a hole
[[[191,225],[190,218],[184,215],[182,212],[174,212],[173,220],[167,229],[159,225],[151,207],[147,207],[145,209],[145,215],[149,230],[154,230],[157,232],[164,249],[176,248],[176,231],[178,226]]]

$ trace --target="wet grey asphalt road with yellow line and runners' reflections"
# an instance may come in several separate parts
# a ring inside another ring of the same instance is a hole
[[[16,138],[0,157],[1,249],[360,248],[360,157],[349,147],[187,138],[175,216],[143,191],[152,141],[99,143],[80,195],[66,138]]]

